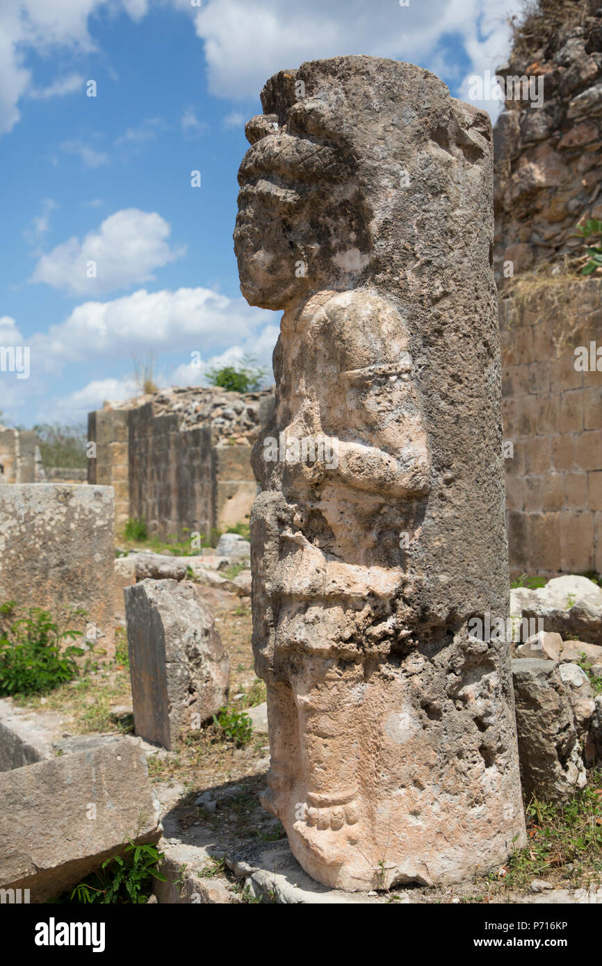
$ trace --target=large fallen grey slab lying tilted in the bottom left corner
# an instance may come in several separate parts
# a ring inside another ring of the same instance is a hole
[[[160,834],[146,755],[127,739],[0,775],[0,887],[33,902],[80,882],[128,836]]]

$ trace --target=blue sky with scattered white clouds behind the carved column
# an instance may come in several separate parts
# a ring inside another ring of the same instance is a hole
[[[420,64],[466,98],[470,74],[507,55],[518,6],[0,0],[0,346],[31,354],[28,379],[0,372],[2,420],[80,421],[133,394],[134,358],[153,355],[164,385],[203,382],[193,352],[269,365],[279,313],[246,305],[232,246],[262,84],[366,53]]]

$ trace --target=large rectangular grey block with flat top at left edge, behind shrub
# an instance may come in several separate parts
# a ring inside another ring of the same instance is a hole
[[[44,608],[60,617],[69,608],[111,654],[114,582],[112,487],[25,483],[0,487],[0,602]]]

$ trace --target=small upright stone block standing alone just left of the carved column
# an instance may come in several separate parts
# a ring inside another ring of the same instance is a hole
[[[169,750],[225,702],[230,662],[194,583],[144,580],[124,593],[135,733]]]

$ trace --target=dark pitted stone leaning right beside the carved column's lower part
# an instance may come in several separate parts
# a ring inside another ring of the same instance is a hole
[[[569,799],[587,782],[570,696],[553,661],[515,658],[512,680],[523,792]]]

